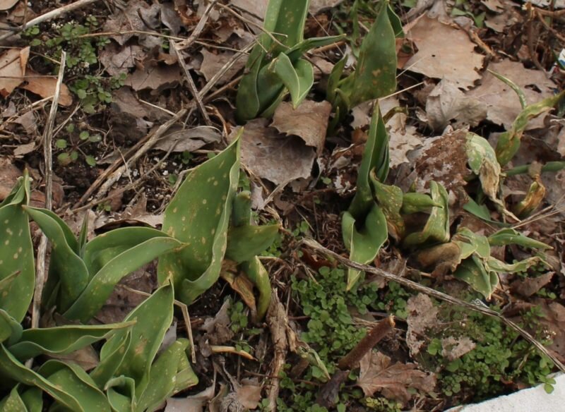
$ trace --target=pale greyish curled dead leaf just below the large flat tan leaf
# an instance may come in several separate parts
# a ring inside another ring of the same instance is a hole
[[[443,131],[451,121],[453,128],[477,126],[487,117],[487,105],[465,96],[451,80],[444,79],[428,95],[426,115],[435,131]]]

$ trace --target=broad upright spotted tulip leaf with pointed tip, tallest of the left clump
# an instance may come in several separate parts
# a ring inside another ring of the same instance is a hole
[[[238,181],[239,135],[187,174],[165,210],[162,230],[183,244],[160,257],[157,276],[161,283],[172,279],[177,298],[186,304],[220,277]]]

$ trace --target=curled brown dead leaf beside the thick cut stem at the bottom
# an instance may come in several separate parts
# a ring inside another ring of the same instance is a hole
[[[361,359],[360,365],[357,386],[363,389],[365,396],[381,392],[386,399],[406,404],[412,397],[408,388],[432,392],[436,386],[433,373],[418,370],[414,363],[391,364],[391,358],[379,352],[367,353]]]

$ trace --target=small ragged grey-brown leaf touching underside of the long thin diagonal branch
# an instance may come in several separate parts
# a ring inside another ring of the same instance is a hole
[[[432,299],[424,293],[418,293],[408,299],[408,329],[406,331],[406,344],[412,356],[420,353],[420,349],[426,341],[426,329],[432,328],[438,322],[438,308],[432,303]]]

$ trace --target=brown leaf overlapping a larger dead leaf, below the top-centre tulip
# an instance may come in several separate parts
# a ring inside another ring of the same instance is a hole
[[[320,155],[326,143],[330,113],[331,104],[325,100],[304,100],[297,109],[292,109],[292,104],[283,102],[275,110],[270,126],[280,133],[302,138],[307,146],[316,147],[316,153]]]

